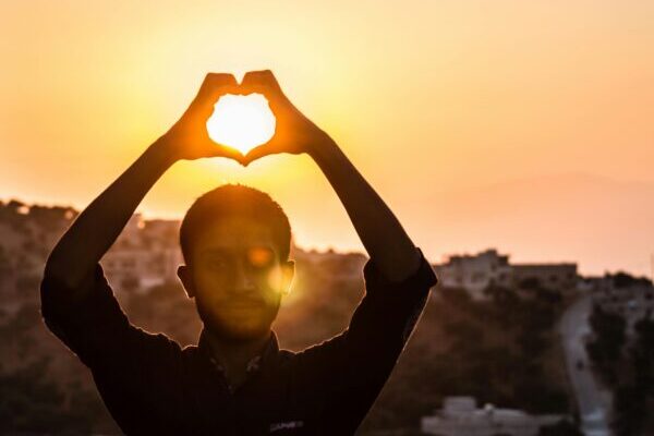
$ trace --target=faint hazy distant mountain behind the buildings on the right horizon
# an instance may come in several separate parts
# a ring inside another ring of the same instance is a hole
[[[592,174],[516,180],[433,199],[438,254],[498,247],[514,262],[578,262],[584,274],[651,275],[654,183]]]

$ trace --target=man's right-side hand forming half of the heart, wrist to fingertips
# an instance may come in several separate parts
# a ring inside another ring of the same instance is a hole
[[[245,155],[244,165],[259,157],[278,153],[311,154],[326,141],[330,141],[327,133],[304,117],[283,95],[279,83],[269,70],[251,71],[245,74],[239,94],[253,93],[262,94],[268,99],[276,118],[276,128],[270,141]]]

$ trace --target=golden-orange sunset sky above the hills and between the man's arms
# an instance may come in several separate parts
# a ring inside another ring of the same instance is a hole
[[[652,1],[0,0],[0,198],[84,208],[207,72],[270,69],[434,262],[651,275]],[[307,156],[175,164],[140,207],[181,218],[226,182],[295,242],[363,250]]]

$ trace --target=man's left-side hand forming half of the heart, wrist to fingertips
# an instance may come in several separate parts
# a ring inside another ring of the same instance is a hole
[[[189,109],[158,141],[174,160],[203,157],[228,157],[243,164],[244,156],[235,148],[215,143],[207,132],[207,120],[214,105],[226,94],[238,94],[233,75],[208,73]]]

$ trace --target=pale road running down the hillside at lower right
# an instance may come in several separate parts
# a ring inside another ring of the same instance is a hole
[[[559,332],[566,352],[566,367],[577,397],[581,429],[586,436],[609,436],[610,392],[593,377],[584,347],[584,337],[591,332],[591,295],[580,298],[561,317]],[[582,362],[581,368],[579,362]]]

